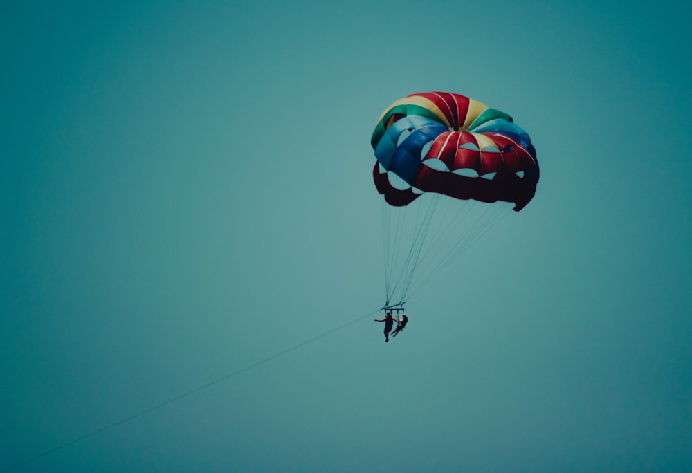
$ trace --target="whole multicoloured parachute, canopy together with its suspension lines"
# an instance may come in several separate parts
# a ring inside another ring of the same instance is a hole
[[[417,291],[415,275],[424,275],[421,286],[482,238],[506,214],[502,203],[519,212],[536,193],[539,169],[529,134],[507,113],[464,95],[397,100],[370,142],[372,176],[383,196],[385,308],[403,307]],[[472,212],[474,203],[486,208]]]

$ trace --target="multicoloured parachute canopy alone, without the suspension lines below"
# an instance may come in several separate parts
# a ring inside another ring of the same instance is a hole
[[[370,142],[377,158],[375,187],[390,205],[436,192],[512,202],[518,212],[536,193],[538,161],[528,133],[507,113],[464,95],[415,93],[397,100]]]

